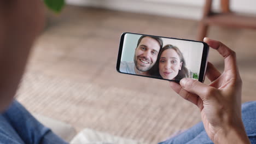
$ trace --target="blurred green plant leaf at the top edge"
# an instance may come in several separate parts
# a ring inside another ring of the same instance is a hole
[[[44,0],[44,3],[49,9],[56,13],[60,13],[61,9],[65,5],[65,0]]]

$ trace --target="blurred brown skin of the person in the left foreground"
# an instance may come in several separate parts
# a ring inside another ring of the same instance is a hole
[[[43,27],[38,0],[0,1],[0,111],[13,99],[34,39]]]

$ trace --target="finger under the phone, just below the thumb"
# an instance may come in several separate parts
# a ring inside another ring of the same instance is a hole
[[[181,85],[179,85],[178,83],[176,82],[170,82],[170,86],[171,88],[176,92],[178,93],[179,95],[181,95],[182,98],[184,98],[185,100],[188,100],[190,101],[191,103],[195,104],[198,106],[197,104],[197,101],[199,99],[198,95],[195,95],[195,94],[192,94],[192,93],[189,93],[187,91],[185,91],[185,89],[183,89],[181,87]]]

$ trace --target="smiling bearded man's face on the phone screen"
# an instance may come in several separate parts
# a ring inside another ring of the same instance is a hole
[[[150,37],[144,37],[136,48],[134,55],[135,67],[139,71],[148,71],[156,62],[160,45]]]

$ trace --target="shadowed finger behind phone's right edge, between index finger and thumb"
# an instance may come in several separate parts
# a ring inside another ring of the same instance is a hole
[[[206,68],[206,76],[208,77],[208,79],[212,82],[218,79],[220,75],[221,73],[219,72],[219,70],[216,67],[214,67],[212,63],[208,62]]]

